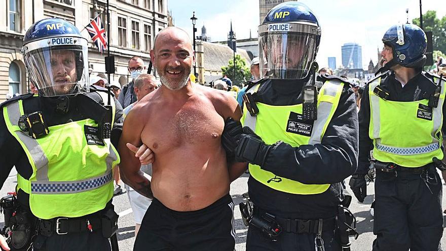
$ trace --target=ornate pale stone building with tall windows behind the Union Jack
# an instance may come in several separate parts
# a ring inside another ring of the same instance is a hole
[[[0,1],[0,102],[7,93],[26,93],[29,83],[20,48],[32,23],[51,17],[68,20],[82,30],[89,41],[89,72],[105,77],[104,54],[100,54],[83,29],[96,15],[106,28],[105,0],[8,0]],[[167,0],[109,0],[110,55],[115,56],[112,81],[129,81],[127,64],[140,56],[146,65],[155,35],[167,26]]]

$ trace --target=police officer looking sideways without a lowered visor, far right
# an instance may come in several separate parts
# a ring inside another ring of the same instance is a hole
[[[373,250],[441,250],[442,188],[436,167],[444,169],[445,80],[422,70],[427,39],[420,27],[393,25],[383,43],[387,64],[362,95],[359,165],[350,187],[362,202],[373,148]]]

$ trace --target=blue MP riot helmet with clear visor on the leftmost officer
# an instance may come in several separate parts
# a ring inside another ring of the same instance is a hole
[[[47,18],[31,25],[23,38],[22,54],[40,95],[89,92],[88,42],[68,21]]]

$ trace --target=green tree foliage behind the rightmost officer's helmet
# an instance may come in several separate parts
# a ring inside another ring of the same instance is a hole
[[[420,26],[420,18],[415,18],[412,22]],[[436,11],[427,11],[423,15],[423,30],[432,31],[433,49],[446,53],[446,16],[439,19]]]

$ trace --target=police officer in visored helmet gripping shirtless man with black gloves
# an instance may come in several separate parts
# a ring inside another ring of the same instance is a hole
[[[236,146],[236,159],[249,162],[246,249],[341,250],[341,182],[357,165],[355,95],[337,77],[320,76],[316,89],[321,30],[307,6],[279,4],[258,30],[264,79],[247,88],[243,133],[227,121],[222,137],[229,154]]]

